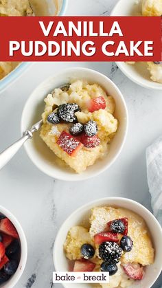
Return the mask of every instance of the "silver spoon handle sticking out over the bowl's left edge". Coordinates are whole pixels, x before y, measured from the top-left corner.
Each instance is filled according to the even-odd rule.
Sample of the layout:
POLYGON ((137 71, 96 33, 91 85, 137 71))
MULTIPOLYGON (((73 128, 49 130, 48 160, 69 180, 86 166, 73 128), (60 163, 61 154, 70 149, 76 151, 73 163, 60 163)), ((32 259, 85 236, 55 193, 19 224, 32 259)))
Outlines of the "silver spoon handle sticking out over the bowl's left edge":
POLYGON ((0 153, 0 170, 7 164, 10 159, 16 154, 17 151, 23 146, 23 144, 26 142, 27 139, 32 137, 32 133, 29 133, 30 131, 27 131, 24 133, 23 137, 16 141, 14 144, 6 148, 2 153, 0 153))

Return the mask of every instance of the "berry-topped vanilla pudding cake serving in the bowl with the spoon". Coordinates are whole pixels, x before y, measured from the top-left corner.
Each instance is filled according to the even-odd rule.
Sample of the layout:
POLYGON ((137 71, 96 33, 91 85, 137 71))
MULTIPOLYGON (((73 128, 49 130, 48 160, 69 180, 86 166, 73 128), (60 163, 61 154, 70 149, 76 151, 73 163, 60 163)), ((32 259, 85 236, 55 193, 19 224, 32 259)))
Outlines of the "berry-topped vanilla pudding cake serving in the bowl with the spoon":
POLYGON ((82 173, 108 153, 117 132, 115 100, 100 85, 76 80, 45 98, 40 137, 67 166, 82 173))

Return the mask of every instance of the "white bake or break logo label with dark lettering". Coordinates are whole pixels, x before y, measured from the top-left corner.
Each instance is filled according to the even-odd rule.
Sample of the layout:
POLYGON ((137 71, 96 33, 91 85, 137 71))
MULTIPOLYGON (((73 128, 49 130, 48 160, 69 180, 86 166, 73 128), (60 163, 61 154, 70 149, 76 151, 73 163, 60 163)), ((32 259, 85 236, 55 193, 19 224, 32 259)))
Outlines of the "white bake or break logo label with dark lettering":
POLYGON ((53 283, 109 283, 108 272, 54 272, 53 283))

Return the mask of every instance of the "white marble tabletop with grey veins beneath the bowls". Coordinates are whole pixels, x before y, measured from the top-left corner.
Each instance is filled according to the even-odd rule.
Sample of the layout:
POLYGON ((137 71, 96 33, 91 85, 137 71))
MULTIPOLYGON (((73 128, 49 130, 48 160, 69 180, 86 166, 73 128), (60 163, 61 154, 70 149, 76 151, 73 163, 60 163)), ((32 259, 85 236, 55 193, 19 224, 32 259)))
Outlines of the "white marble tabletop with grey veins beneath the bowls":
MULTIPOLYGON (((117 0, 69 0, 67 14, 108 15, 115 3, 117 0)), ((33 166, 23 148, 0 171, 1 205, 14 213, 27 236, 27 265, 16 288, 54 287, 52 247, 56 233, 62 221, 82 204, 99 197, 120 196, 150 209, 145 150, 162 133, 161 91, 138 87, 114 63, 34 63, 0 95, 0 150, 20 136, 22 109, 32 90, 51 74, 72 66, 96 69, 121 89, 130 117, 128 138, 122 155, 109 170, 82 183, 47 177, 33 166)), ((162 278, 154 288, 160 283, 162 278)))

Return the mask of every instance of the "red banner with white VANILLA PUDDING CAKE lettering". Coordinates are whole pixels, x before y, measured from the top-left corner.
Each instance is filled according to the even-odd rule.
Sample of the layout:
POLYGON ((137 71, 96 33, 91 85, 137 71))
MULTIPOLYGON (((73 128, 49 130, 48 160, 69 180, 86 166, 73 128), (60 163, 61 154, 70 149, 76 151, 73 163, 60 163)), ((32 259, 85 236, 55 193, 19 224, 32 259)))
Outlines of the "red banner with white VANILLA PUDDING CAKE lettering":
POLYGON ((161 61, 161 17, 0 17, 1 61, 161 61))

